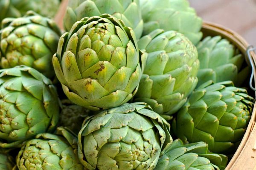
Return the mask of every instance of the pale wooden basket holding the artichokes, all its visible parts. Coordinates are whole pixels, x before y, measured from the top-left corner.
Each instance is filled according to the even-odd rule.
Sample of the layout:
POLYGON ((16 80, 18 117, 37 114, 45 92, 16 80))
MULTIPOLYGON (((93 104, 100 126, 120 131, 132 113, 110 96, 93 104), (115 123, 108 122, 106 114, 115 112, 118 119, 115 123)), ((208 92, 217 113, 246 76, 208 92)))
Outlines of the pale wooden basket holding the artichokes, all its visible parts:
MULTIPOLYGON (((67 3, 68 3, 68 0, 62 0, 59 11, 55 16, 55 21, 62 30, 63 30, 63 17, 64 17, 65 9, 67 7, 67 3)), ((209 35, 209 36, 221 35, 221 37, 226 38, 227 40, 232 42, 233 45, 239 48, 241 53, 244 55, 248 65, 250 65, 249 59, 247 57, 247 47, 249 46, 249 44, 239 34, 237 34, 234 31, 231 31, 228 28, 224 28, 223 26, 219 26, 217 24, 207 23, 207 22, 203 23, 201 31, 204 33, 204 35, 209 35)), ((254 62, 253 68, 255 68, 256 54, 254 52, 250 52, 250 54, 254 62)), ((255 69, 254 69, 254 78, 256 78, 255 69)), ((247 83, 247 85, 249 87, 249 82, 247 83)), ((247 130, 241 141, 241 144, 239 145, 238 149, 236 150, 236 153, 234 154, 233 158, 227 165, 226 170, 254 170, 254 169, 256 170, 255 121, 256 121, 256 105, 254 105, 253 113, 252 113, 249 125, 247 127, 247 130)))

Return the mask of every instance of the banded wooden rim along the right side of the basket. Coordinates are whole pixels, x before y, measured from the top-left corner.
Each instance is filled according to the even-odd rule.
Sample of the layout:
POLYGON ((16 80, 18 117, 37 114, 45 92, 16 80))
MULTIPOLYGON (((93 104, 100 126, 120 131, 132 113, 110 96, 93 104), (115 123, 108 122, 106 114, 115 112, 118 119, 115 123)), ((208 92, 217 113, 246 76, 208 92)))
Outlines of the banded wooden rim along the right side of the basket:
MULTIPOLYGON (((232 42, 233 45, 235 45, 237 48, 239 48, 241 53, 244 55, 244 57, 247 61, 247 64, 249 65, 249 60, 247 57, 247 48, 248 48, 249 44, 246 42, 246 40, 244 40, 243 37, 241 37, 241 35, 230 30, 229 28, 225 28, 224 26, 221 26, 221 25, 218 25, 215 23, 209 23, 209 22, 203 23, 201 31, 203 32, 203 34, 206 34, 209 36, 221 35, 221 37, 226 38, 227 40, 232 42)), ((254 52, 251 52, 250 54, 253 58, 254 70, 255 70, 256 54, 254 52)), ((254 82, 256 82, 255 78, 256 78, 256 72, 254 71, 254 82)), ((249 87, 249 84, 248 84, 248 87, 249 87)), ((225 170, 238 170, 237 168, 235 168, 234 165, 237 162, 239 162, 240 153, 244 149, 244 146, 246 145, 247 141, 249 141, 248 138, 253 130, 255 121, 256 121, 256 105, 254 103, 253 113, 252 113, 250 122, 248 124, 247 130, 244 134, 244 137, 243 137, 238 149, 236 150, 236 153, 234 154, 233 158, 230 160, 230 162, 227 165, 225 170)))

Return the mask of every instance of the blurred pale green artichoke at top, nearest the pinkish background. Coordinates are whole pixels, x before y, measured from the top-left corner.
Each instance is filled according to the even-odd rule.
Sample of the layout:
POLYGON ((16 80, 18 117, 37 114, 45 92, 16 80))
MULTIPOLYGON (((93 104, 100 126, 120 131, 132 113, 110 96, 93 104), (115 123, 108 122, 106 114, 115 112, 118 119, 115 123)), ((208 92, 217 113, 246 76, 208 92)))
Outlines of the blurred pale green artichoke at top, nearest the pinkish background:
POLYGON ((188 0, 140 0, 144 21, 143 35, 161 28, 164 31, 178 31, 193 44, 202 37, 202 19, 197 16, 188 0))

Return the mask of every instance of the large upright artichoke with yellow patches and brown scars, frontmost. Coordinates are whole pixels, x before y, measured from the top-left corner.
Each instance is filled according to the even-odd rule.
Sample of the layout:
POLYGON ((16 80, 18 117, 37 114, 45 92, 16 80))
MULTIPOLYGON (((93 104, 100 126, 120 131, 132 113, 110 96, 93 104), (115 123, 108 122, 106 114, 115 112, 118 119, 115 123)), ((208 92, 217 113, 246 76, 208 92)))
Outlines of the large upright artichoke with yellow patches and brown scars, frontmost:
POLYGON ((67 97, 99 110, 117 107, 134 96, 145 59, 146 54, 140 57, 134 31, 105 14, 76 22, 61 36, 52 62, 67 97))

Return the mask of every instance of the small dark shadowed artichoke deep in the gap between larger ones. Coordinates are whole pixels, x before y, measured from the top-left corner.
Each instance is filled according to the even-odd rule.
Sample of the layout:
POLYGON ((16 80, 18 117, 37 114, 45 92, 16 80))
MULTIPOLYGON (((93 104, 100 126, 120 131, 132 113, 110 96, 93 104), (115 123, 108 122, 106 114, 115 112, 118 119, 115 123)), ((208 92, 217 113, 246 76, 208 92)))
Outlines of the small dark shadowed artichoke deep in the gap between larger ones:
POLYGON ((90 111, 75 105, 69 100, 62 100, 62 110, 60 113, 60 125, 67 127, 78 134, 81 130, 84 119, 89 116, 90 111))

